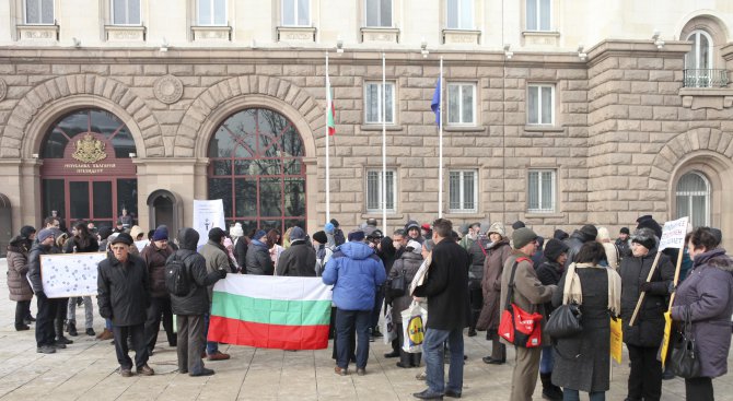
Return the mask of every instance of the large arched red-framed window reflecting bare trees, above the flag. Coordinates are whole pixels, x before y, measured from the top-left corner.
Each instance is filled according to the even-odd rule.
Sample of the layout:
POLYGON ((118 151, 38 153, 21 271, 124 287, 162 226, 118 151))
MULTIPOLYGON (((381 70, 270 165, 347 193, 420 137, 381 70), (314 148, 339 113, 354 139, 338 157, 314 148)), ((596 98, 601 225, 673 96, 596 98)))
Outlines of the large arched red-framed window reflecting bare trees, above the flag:
POLYGON ((306 228, 304 146, 281 114, 247 108, 222 122, 209 142, 209 199, 222 199, 226 223, 306 228))

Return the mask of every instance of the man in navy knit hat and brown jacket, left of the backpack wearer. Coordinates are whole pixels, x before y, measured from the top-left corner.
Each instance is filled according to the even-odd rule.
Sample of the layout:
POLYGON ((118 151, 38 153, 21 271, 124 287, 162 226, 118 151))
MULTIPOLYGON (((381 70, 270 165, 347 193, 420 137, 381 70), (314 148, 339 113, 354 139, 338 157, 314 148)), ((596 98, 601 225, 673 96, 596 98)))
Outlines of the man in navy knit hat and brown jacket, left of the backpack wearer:
MULTIPOLYGON (((146 318, 146 344, 150 355, 153 354, 161 331, 161 322, 170 346, 176 346, 178 338, 173 330, 173 309, 171 296, 165 288, 165 264, 175 250, 168 238, 168 227, 159 225, 150 236, 150 244, 142 249, 140 257, 146 262, 150 280, 150 305, 146 318)), ((107 329, 101 334, 104 335, 107 329)))

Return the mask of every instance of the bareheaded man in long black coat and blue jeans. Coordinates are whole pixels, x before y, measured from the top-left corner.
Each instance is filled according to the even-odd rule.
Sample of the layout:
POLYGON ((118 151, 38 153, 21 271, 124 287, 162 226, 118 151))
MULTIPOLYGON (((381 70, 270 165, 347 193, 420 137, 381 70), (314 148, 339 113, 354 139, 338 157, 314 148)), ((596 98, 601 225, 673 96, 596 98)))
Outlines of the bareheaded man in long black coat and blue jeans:
POLYGON ((468 326, 468 253, 451 239, 453 224, 438 219, 433 223, 432 261, 424 283, 412 295, 428 297, 428 319, 422 354, 428 389, 414 396, 423 400, 461 397, 463 390, 463 328, 468 326), (443 373, 443 343, 451 352, 449 381, 443 373))

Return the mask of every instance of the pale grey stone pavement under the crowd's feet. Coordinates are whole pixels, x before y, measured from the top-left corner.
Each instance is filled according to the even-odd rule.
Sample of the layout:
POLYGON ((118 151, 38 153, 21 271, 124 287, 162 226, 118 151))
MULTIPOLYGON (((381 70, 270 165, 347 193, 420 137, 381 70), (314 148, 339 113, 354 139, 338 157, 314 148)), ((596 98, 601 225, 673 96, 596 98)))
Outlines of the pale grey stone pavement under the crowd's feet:
MULTIPOLYGON (((0 259, 0 271, 7 271, 0 259)), ((391 351, 380 339, 370 343, 366 375, 340 377, 334 374, 331 349, 284 352, 246 346, 221 345, 232 358, 207 362, 217 374, 210 377, 189 377, 176 371, 175 349, 167 346, 165 334, 150 358, 155 376, 123 378, 117 373, 114 346, 80 330, 74 343, 56 354, 36 353, 32 330, 16 332, 13 328, 15 303, 8 299, 5 274, 0 274, 0 399, 1 400, 416 400, 411 394, 424 389, 416 380, 420 368, 403 369, 394 358, 383 357, 391 351)), ((96 314, 94 330, 101 331, 104 320, 96 314)), ((35 315, 35 300, 32 305, 35 315)), ((83 307, 77 308, 77 321, 83 322, 83 307)), ((481 357, 489 354, 490 342, 479 333, 465 338, 463 398, 468 400, 507 400, 514 365, 513 350, 502 366, 486 365, 481 357)), ((329 344, 330 345, 330 344, 329 344)), ((613 368, 607 400, 624 400, 628 378, 628 358, 613 368)), ((730 356, 729 361, 733 362, 730 356)), ((351 369, 354 367, 351 366, 351 369)), ((447 374, 447 369, 446 369, 447 374)), ((537 380, 534 400, 542 400, 537 380)), ((713 380, 715 399, 733 401, 731 375, 713 380)), ((664 381, 662 399, 685 399, 685 382, 676 378, 664 381)), ((587 400, 581 394, 581 400, 587 400)))

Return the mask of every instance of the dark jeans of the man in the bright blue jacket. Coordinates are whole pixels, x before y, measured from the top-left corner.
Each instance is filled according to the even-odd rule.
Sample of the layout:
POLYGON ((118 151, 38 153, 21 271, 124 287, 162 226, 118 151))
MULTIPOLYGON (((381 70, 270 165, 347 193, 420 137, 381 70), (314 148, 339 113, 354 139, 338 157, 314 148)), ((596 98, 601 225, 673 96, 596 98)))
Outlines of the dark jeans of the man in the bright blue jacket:
POLYGON ((369 358, 369 325, 371 310, 336 309, 336 364, 346 369, 349 367, 349 332, 357 328, 357 368, 366 367, 369 358))

